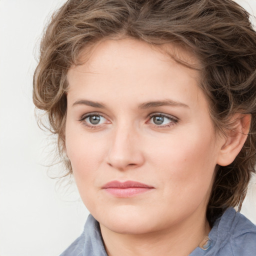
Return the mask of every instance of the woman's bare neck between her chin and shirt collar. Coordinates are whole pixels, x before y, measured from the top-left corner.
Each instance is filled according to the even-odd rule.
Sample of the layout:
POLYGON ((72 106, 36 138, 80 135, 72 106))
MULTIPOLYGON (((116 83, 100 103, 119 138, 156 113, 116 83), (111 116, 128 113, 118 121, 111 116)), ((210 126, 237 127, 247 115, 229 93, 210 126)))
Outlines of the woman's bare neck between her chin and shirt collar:
POLYGON ((206 216, 198 218, 197 215, 171 228, 150 233, 117 233, 101 224, 100 228, 108 256, 187 256, 210 230, 206 216))

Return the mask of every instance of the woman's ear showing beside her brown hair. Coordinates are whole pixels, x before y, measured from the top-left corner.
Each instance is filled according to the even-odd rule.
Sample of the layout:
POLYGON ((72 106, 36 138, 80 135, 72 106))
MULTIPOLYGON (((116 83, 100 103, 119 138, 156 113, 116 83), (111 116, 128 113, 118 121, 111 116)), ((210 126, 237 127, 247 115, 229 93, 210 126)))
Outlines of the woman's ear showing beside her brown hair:
POLYGON ((233 126, 225 132, 224 143, 221 145, 217 157, 217 164, 230 164, 240 152, 249 132, 250 114, 236 113, 232 117, 233 126))

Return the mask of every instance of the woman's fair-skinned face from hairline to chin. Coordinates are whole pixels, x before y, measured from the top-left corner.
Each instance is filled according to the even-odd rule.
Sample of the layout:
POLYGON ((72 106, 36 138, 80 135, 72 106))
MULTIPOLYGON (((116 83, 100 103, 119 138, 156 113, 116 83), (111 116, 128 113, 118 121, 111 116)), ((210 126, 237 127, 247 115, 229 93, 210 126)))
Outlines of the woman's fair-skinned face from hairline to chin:
POLYGON ((67 79, 66 153, 91 214, 119 233, 196 225, 223 142, 197 71, 145 42, 105 40, 67 79))

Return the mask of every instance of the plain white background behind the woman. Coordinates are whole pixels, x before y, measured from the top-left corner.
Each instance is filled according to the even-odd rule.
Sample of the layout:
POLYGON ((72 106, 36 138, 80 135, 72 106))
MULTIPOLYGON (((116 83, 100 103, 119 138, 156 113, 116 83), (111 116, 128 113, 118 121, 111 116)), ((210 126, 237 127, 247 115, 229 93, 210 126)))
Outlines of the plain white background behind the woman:
MULTIPOLYGON (((88 214, 74 185, 67 190, 48 176, 61 166, 47 173, 53 147, 36 124, 31 98, 40 35, 63 2, 0 0, 0 256, 57 256, 88 214)), ((256 0, 237 2, 256 13, 256 0)), ((242 212, 256 223, 255 184, 242 212)))

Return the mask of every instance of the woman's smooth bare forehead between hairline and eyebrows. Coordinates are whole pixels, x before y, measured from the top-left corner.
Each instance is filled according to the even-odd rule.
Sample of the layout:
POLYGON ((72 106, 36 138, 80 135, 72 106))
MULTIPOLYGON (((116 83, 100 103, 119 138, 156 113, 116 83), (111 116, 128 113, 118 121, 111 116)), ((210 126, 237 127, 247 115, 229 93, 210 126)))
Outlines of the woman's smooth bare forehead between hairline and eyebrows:
MULTIPOLYGON (((191 101, 198 94, 199 71, 175 61, 179 58, 191 66, 197 59, 178 46, 160 48, 134 39, 104 40, 95 45, 90 54, 81 52, 80 65, 73 65, 67 74, 68 91, 74 97, 84 93, 89 97, 104 97, 114 93, 117 97, 140 95, 141 101, 164 99, 191 101), (95 94, 96 93, 96 94, 95 94)), ((124 98, 124 99, 125 99, 124 98)), ((143 103, 143 102, 138 102, 143 103)))

